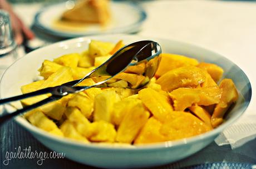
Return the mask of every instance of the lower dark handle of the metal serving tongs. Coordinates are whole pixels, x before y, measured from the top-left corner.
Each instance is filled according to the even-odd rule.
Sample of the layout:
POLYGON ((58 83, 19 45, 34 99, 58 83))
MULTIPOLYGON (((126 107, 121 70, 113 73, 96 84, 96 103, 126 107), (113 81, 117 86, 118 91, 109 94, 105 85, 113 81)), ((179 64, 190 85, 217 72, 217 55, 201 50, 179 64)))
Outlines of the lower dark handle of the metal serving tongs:
POLYGON ((39 106, 45 105, 45 104, 50 103, 50 102, 55 101, 55 100, 59 100, 61 98, 62 98, 62 96, 51 96, 51 97, 49 97, 47 99, 38 101, 35 104, 26 106, 23 109, 19 109, 17 111, 11 112, 11 113, 3 112, 3 114, 0 114, 0 125, 3 124, 4 122, 10 120, 12 117, 14 117, 16 115, 23 114, 26 111, 35 109, 35 108, 37 108, 39 106))

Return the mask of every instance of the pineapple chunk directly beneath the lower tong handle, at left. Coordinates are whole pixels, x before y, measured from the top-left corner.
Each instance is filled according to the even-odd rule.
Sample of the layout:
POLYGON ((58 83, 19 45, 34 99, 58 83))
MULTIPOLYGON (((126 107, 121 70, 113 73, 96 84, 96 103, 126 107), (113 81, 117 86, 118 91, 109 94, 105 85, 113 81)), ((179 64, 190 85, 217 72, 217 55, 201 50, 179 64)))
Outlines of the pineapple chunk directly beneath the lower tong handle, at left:
POLYGON ((42 105, 38 109, 55 120, 60 120, 65 111, 65 107, 59 101, 42 105))

